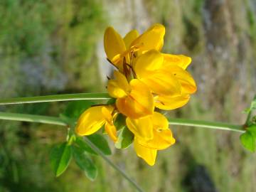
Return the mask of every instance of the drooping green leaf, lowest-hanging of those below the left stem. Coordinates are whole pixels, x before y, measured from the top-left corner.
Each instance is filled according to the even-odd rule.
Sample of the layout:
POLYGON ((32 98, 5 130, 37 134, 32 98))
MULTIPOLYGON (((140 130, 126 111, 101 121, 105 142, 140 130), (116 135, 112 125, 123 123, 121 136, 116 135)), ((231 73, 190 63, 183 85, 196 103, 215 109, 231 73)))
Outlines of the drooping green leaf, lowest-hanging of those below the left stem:
POLYGON ((85 176, 87 176, 87 178, 94 181, 97 177, 97 167, 90 159, 90 156, 77 146, 72 146, 72 152, 75 163, 78 164, 82 171, 85 171, 85 176))

